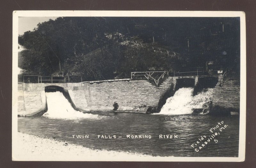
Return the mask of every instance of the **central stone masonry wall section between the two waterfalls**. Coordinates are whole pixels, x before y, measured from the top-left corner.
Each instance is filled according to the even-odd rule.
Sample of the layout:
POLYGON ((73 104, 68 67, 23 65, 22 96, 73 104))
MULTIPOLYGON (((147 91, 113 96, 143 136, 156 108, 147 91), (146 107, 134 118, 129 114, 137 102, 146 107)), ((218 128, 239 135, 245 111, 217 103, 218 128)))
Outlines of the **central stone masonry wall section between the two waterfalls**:
POLYGON ((68 84, 68 90, 72 90, 76 108, 84 111, 112 111, 117 102, 118 111, 146 113, 149 107, 158 107, 161 97, 171 89, 171 82, 169 77, 156 88, 147 80, 95 81, 73 88, 68 84))

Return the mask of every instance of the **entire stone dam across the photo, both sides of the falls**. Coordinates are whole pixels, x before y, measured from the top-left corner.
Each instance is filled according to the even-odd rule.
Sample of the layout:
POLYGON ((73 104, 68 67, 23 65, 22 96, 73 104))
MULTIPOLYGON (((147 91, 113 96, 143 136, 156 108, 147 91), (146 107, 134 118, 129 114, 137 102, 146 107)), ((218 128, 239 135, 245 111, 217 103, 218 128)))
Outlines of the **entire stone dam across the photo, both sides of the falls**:
MULTIPOLYGON (((220 86, 222 75, 167 77, 156 87, 148 80, 116 79, 82 83, 19 83, 18 116, 40 116, 47 111, 45 92, 56 89, 63 92, 73 108, 85 111, 159 112, 175 88, 199 83, 213 84, 212 109, 230 113, 239 112, 240 85, 220 86), (204 81, 208 82, 204 82, 204 81), (212 81, 212 82, 211 82, 212 81)), ((195 89, 196 90, 196 89, 195 89)))

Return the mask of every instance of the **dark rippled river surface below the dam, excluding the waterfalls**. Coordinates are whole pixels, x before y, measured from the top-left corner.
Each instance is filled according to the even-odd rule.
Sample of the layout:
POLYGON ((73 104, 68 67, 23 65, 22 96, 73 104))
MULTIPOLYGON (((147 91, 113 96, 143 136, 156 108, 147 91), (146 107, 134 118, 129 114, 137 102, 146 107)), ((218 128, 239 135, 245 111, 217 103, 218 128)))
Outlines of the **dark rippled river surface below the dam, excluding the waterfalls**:
MULTIPOLYGON (((146 115, 136 113, 95 112, 100 119, 58 119, 46 116, 19 117, 20 132, 40 137, 68 141, 94 149, 138 152, 153 156, 225 156, 238 157, 239 116, 209 115, 146 115), (228 125, 198 152, 190 145, 212 135, 210 128, 218 122, 228 125), (127 139, 126 135, 150 135, 151 139, 127 139), (159 139, 159 134, 171 134, 173 139, 159 139), (179 138, 174 139, 174 134, 179 138), (89 135, 88 139, 72 135, 89 135), (98 135, 110 135, 101 139, 98 135), (116 139, 113 138, 116 135, 116 139), (122 138, 118 138, 122 136, 122 138)), ((206 141, 206 138, 203 140, 206 141)), ((200 145, 202 142, 200 142, 200 145)))

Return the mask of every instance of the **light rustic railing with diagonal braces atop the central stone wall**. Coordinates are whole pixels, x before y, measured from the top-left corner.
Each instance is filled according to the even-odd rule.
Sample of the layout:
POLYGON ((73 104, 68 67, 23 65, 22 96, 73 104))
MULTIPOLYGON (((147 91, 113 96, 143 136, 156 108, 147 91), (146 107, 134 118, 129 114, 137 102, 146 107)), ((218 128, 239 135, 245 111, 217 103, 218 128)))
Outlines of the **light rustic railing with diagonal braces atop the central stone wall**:
POLYGON ((164 75, 169 76, 169 72, 168 71, 151 71, 151 72, 131 72, 131 79, 134 79, 134 77, 136 76, 145 76, 148 80, 149 78, 152 78, 154 80, 154 82, 156 83, 156 87, 158 87, 158 83, 160 78, 164 78, 164 75), (159 74, 160 73, 160 74, 159 74), (152 75, 158 75, 156 76, 152 76, 152 75))

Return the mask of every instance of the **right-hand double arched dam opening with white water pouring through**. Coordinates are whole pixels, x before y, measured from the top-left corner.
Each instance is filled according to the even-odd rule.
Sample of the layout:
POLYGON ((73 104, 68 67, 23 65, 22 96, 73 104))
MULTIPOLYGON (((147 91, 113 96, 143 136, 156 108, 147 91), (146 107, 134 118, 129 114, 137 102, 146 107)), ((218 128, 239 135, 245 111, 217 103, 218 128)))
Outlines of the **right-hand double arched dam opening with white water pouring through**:
POLYGON ((167 98, 158 114, 208 114, 212 108, 213 88, 217 77, 178 78, 173 95, 167 98))

